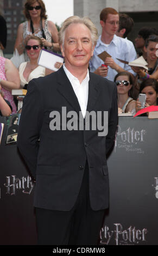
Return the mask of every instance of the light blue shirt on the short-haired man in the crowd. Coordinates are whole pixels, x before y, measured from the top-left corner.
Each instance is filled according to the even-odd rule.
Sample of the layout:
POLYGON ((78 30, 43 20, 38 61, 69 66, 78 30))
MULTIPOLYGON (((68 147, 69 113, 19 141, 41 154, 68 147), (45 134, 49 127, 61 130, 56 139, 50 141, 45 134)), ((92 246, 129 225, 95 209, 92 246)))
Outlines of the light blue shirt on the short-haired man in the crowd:
MULTIPOLYGON (((114 35, 110 44, 107 46, 104 44, 104 42, 102 42, 100 35, 96 47, 94 48, 93 57, 90 60, 91 72, 94 72, 96 69, 99 68, 100 65, 104 64, 103 60, 98 57, 98 54, 102 53, 103 51, 108 52, 115 61, 115 63, 121 66, 121 68, 135 75, 135 72, 132 71, 129 65, 119 62, 119 60, 116 59, 119 58, 122 60, 126 60, 127 62, 132 62, 132 60, 135 60, 137 58, 134 44, 130 40, 114 35)), ((106 76, 106 78, 113 81, 117 73, 118 72, 115 69, 111 69, 110 66, 108 66, 108 75, 106 76)))

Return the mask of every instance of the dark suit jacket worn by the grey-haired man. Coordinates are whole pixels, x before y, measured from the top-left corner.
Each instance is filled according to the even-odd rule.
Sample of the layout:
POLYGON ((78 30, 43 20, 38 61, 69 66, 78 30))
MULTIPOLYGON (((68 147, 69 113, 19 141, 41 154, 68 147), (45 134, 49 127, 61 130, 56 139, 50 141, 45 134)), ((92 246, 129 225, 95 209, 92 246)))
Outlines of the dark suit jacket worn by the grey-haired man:
POLYGON ((30 81, 18 131, 18 148, 36 178, 34 205, 69 211, 80 190, 86 160, 89 163, 90 202, 93 210, 109 205, 109 177, 106 153, 117 126, 117 89, 114 83, 90 73, 87 111, 108 111, 108 136, 98 131, 52 131, 50 112, 65 106, 81 111, 77 96, 61 68, 46 77, 30 81), (37 140, 40 137, 40 143, 37 140))

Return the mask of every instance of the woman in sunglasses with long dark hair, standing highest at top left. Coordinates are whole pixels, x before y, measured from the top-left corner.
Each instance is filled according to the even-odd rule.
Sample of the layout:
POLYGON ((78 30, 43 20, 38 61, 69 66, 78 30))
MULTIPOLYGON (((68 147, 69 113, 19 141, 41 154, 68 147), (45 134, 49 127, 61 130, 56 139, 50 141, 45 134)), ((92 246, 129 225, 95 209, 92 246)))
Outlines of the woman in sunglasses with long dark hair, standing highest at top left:
POLYGON ((52 21, 47 20, 45 4, 42 0, 27 0, 24 5, 24 15, 27 21, 18 26, 15 49, 18 54, 24 54, 27 61, 25 51, 26 42, 30 35, 36 35, 41 38, 43 46, 50 51, 59 51, 58 31, 52 21))

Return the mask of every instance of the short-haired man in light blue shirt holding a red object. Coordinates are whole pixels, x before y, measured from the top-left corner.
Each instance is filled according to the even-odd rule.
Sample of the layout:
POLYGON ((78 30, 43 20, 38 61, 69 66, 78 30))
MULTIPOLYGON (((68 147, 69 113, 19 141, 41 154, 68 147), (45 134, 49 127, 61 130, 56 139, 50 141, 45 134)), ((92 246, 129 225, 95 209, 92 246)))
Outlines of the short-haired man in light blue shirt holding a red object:
POLYGON ((90 70, 97 75, 108 78, 113 81, 118 72, 128 71, 134 74, 129 65, 120 62, 122 59, 128 62, 137 58, 134 45, 129 47, 127 40, 116 35, 119 26, 119 15, 113 8, 105 8, 100 13, 100 25, 102 26, 102 35, 99 36, 97 45, 94 49, 93 57, 90 61, 90 70), (111 57, 103 61, 98 54, 106 51, 111 57), (102 66, 105 64, 108 66, 102 66))

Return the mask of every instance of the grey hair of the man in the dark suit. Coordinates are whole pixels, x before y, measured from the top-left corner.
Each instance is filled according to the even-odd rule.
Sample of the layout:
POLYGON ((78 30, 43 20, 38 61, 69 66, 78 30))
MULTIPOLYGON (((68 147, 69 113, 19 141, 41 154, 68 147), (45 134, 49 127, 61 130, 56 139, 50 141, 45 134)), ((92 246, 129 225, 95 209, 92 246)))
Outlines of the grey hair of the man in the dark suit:
POLYGON ((97 44, 97 40, 98 40, 98 31, 96 26, 93 24, 93 22, 90 20, 89 17, 79 17, 79 16, 71 16, 68 17, 64 23, 62 23, 62 27, 60 28, 59 31, 59 44, 62 45, 62 47, 64 47, 64 40, 65 40, 65 31, 66 28, 71 25, 72 23, 75 24, 84 24, 87 28, 90 29, 91 32, 91 38, 92 38, 92 44, 96 45, 97 44))

